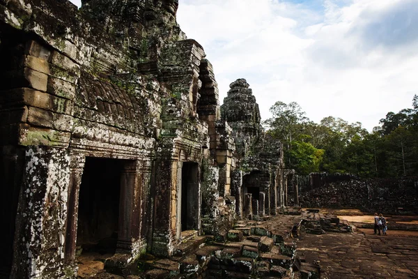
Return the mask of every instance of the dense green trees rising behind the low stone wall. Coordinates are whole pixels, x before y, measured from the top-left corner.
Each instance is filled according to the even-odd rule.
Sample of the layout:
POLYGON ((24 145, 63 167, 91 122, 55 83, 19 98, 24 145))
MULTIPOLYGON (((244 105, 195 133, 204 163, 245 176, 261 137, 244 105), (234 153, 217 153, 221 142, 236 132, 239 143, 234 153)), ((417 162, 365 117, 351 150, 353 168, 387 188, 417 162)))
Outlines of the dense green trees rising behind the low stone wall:
POLYGON ((314 123, 295 102, 277 102, 264 126, 284 144, 285 163, 299 174, 340 172, 361 177, 418 175, 418 96, 412 108, 388 112, 369 133, 362 123, 327 116, 314 123))

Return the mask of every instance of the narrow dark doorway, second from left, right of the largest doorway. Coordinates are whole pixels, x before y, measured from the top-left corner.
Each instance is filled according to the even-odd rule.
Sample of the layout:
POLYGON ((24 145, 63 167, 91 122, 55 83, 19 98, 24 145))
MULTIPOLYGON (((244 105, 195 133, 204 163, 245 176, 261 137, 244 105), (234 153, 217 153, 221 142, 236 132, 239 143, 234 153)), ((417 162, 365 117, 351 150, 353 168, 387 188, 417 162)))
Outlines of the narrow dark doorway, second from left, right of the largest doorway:
POLYGON ((181 172, 181 230, 199 228, 199 164, 183 163, 181 172))

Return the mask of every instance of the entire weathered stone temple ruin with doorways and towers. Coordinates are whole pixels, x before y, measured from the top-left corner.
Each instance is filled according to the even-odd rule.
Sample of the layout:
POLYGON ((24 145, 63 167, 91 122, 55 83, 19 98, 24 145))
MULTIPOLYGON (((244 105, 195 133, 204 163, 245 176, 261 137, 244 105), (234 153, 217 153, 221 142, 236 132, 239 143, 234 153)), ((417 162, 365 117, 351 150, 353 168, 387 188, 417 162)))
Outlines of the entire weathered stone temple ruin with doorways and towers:
POLYGON ((0 277, 74 278, 93 246, 171 257, 277 213, 281 144, 245 80, 221 113, 178 1, 82 4, 0 0, 0 277))

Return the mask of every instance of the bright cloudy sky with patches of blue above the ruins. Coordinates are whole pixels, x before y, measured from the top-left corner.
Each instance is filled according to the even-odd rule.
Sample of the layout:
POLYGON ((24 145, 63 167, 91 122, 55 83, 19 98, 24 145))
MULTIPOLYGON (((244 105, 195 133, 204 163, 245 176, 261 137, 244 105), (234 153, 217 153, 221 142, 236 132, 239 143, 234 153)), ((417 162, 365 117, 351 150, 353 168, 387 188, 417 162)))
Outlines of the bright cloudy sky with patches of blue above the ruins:
MULTIPOLYGON (((77 2, 77 0, 74 0, 77 2)), ((418 0, 180 0, 219 83, 244 77, 263 119, 277 100, 369 130, 418 94, 418 0)))

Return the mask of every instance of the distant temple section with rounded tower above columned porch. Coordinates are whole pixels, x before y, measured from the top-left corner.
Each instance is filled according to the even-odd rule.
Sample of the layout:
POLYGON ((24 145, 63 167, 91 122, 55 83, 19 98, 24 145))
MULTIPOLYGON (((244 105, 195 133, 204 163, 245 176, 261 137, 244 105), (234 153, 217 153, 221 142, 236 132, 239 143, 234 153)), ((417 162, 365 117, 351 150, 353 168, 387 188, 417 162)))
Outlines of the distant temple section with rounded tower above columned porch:
POLYGON ((236 80, 221 107, 235 138, 232 192, 240 218, 275 214, 284 206, 281 143, 263 133, 256 98, 246 80, 236 80))

